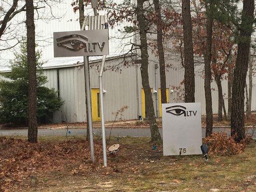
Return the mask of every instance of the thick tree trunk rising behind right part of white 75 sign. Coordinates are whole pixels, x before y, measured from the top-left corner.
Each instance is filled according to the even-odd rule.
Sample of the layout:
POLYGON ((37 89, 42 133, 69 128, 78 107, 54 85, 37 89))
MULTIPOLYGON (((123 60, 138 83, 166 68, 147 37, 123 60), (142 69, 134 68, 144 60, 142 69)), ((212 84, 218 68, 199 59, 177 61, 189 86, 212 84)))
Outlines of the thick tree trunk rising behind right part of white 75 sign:
POLYGON ((195 102, 195 72, 192 40, 190 0, 182 0, 183 39, 184 39, 184 86, 185 102, 195 102))

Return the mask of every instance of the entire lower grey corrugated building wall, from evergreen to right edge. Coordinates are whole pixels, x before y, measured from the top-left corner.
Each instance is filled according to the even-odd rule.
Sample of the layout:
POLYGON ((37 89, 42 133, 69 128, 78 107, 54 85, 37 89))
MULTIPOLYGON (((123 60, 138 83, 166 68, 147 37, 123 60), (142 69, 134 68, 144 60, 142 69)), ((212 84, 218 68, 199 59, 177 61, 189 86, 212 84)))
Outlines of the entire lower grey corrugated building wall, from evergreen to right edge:
MULTIPOLYGON (((123 59, 107 60, 106 65, 120 63, 123 59)), ((98 85, 98 68, 94 63, 94 67, 90 69, 91 88, 99 88, 98 85)), ((175 64, 175 63, 174 63, 175 64)), ((178 65, 178 63, 176 63, 178 65)), ((199 68, 202 68, 202 66, 199 68)), ((122 67, 122 72, 105 71, 103 73, 103 89, 107 91, 104 94, 104 110, 105 120, 110 121, 115 119, 113 113, 117 112, 123 106, 128 106, 122 113, 123 120, 137 119, 138 115, 142 115, 142 84, 139 67, 137 69, 138 74, 138 104, 136 93, 136 68, 122 67)), ((198 69, 200 70, 200 69, 198 69)), ((150 61, 149 68, 149 82, 152 89, 156 89, 155 86, 155 62, 150 61)), ((57 69, 46 70, 45 74, 49 78, 47 86, 56 87, 57 85, 57 69), (54 83, 51 83, 53 80, 54 83)), ((183 80, 183 69, 169 69, 166 72, 166 84, 167 88, 171 90, 171 86, 177 86, 183 80)), ((160 74, 159 68, 157 69, 158 88, 160 88, 160 74)), ((254 79, 255 83, 255 79, 254 79)), ((84 69, 81 67, 71 67, 59 69, 59 90, 60 96, 65 100, 65 104, 61 107, 62 120, 69 122, 83 122, 85 118, 85 84, 84 84, 84 69)), ((227 95, 227 81, 222 81, 223 93, 227 95)), ((213 113, 218 113, 218 89, 216 83, 213 81, 212 87, 212 104, 213 113)), ((254 89, 255 92, 255 84, 254 89)), ((252 98, 252 110, 255 110, 255 95, 252 98)), ((171 93, 169 91, 169 102, 175 103, 177 93, 171 93)), ((156 107, 156 95, 153 94, 154 106, 156 107)), ((204 95, 204 79, 201 76, 195 76, 195 101, 201 103, 202 115, 206 114, 205 95, 204 95)), ((227 108, 227 99, 225 99, 225 106, 227 108)), ((57 114, 58 115, 58 114, 57 114)))

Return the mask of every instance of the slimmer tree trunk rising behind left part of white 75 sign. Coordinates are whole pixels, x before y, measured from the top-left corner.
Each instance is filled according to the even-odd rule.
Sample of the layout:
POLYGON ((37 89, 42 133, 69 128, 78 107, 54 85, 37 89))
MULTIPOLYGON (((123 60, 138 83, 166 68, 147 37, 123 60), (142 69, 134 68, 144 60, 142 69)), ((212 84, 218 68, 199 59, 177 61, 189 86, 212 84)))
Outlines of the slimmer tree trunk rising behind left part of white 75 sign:
MULTIPOLYGON (((159 0, 153 0, 155 11, 157 13, 157 45, 159 56, 159 68, 160 68, 160 87, 161 87, 161 103, 167 103, 166 97, 166 75, 165 75, 165 60, 164 60, 164 48, 163 48, 163 26, 161 19, 161 9, 159 0)), ((156 87, 157 88, 157 87, 156 87)))

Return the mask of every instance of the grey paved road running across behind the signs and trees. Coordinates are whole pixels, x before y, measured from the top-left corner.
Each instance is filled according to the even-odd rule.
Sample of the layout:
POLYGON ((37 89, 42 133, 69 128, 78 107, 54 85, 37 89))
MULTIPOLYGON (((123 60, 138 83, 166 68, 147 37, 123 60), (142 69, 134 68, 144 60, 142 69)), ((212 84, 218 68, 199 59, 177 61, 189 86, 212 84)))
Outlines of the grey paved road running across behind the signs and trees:
MULTIPOLYGON (((81 128, 69 128, 71 132, 71 136, 75 135, 85 135, 86 130, 81 128)), ((67 130, 66 129, 38 129, 38 135, 40 136, 65 136, 67 130)), ((101 134, 100 128, 93 129, 95 135, 101 134)), ((162 135, 162 129, 159 129, 160 134, 162 135)), ((206 129, 202 128, 202 137, 205 137, 206 129)), ((214 128, 213 132, 227 132, 230 135, 229 128, 214 128)), ((248 129, 247 131, 249 134, 252 134, 253 130, 248 129)), ((69 134, 69 133, 68 133, 69 134)), ((0 135, 27 135, 27 129, 15 129, 15 130, 0 130, 0 135)), ((110 135, 110 128, 106 128, 106 136, 110 135)), ((111 136, 131 136, 131 137, 150 137, 150 130, 149 128, 146 129, 129 129, 129 128, 114 128, 111 130, 111 136)), ((253 135, 253 138, 256 139, 256 132, 253 135)))

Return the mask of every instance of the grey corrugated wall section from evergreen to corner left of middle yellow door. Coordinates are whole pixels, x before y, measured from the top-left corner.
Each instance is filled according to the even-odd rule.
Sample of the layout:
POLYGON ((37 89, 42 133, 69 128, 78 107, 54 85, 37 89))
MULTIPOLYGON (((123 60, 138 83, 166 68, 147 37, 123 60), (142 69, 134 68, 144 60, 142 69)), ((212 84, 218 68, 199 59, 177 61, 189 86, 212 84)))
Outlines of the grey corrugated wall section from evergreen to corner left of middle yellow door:
MULTIPOLYGON (((122 59, 115 60, 115 62, 121 61, 122 59)), ((112 62, 113 60, 108 60, 106 65, 112 62)), ((90 69, 91 88, 99 88, 98 69, 96 66, 98 64, 100 63, 94 63, 95 67, 90 69)), ((115 115, 113 113, 117 112, 123 106, 128 106, 128 109, 122 113, 123 120, 137 118, 135 67, 122 67, 121 69, 121 73, 113 71, 103 73, 103 89, 107 91, 104 94, 105 120, 114 120, 115 115)), ((49 80, 47 86, 54 87, 56 90, 58 84, 57 70, 59 71, 60 97, 65 101, 60 109, 62 120, 68 122, 86 121, 83 65, 79 67, 45 70, 44 74, 49 80), (52 80, 56 83, 50 83, 52 80)))

